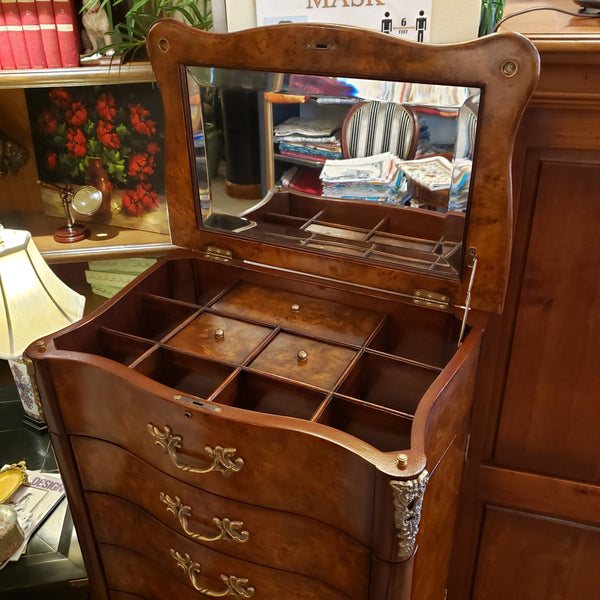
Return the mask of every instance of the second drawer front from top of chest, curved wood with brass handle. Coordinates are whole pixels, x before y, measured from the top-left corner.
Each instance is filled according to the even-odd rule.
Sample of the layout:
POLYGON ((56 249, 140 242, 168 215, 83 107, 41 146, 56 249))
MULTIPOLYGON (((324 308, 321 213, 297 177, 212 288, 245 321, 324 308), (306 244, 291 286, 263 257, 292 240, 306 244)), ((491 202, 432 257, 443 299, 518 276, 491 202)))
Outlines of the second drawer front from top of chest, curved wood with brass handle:
POLYGON ((337 529, 198 490, 114 444, 74 436, 72 445, 86 492, 123 498, 215 551, 307 575, 349 598, 365 597, 370 553, 337 529))

